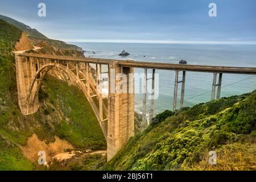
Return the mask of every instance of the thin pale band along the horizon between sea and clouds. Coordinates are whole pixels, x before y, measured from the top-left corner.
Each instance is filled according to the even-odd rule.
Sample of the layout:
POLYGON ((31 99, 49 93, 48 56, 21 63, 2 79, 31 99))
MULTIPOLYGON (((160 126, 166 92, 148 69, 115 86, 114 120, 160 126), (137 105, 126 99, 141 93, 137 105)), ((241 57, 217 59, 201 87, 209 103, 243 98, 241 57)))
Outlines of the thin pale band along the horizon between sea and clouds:
POLYGON ((185 40, 126 40, 126 39, 62 39, 75 43, 144 43, 144 44, 222 44, 222 45, 256 45, 253 41, 185 41, 185 40))

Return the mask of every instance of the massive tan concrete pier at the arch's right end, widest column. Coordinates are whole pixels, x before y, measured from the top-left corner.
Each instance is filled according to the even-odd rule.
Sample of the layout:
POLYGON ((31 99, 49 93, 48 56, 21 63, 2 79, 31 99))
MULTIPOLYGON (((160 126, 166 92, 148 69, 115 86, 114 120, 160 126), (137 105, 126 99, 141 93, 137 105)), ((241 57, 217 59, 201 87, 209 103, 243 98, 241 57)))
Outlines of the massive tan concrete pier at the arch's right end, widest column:
POLYGON ((110 61, 109 69, 108 160, 134 136, 134 92, 129 92, 133 88, 133 77, 128 76, 133 73, 133 68, 121 67, 118 61, 110 61))

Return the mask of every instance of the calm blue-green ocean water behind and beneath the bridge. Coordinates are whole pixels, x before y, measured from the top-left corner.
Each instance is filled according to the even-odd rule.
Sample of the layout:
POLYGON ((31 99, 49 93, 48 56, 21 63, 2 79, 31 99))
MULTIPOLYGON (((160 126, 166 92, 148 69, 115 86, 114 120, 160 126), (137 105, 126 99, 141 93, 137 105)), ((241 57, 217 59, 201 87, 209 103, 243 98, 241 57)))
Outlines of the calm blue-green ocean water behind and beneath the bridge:
MULTIPOLYGON (((143 43, 81 43, 85 56, 106 59, 133 59, 137 61, 188 64, 225 65, 236 67, 256 67, 256 45, 212 45, 212 44, 143 44, 143 43), (125 49, 127 57, 118 56, 125 49), (95 52, 95 53, 93 53, 95 52)), ((143 69, 135 68, 135 73, 143 69)), ((151 72, 151 71, 149 71, 151 72)), ((174 71, 159 71, 158 99, 155 100, 155 113, 172 110, 174 97, 174 71)), ((181 80, 181 72, 179 80, 181 80)), ((186 72, 184 106, 193 106, 210 100, 212 73, 186 72)), ((148 81, 148 87, 150 87, 148 81)), ((179 107, 181 84, 179 84, 177 107, 179 107)), ((255 75, 223 74, 221 97, 228 97, 256 89, 255 75)), ((150 100, 147 100, 147 110, 150 100)), ((142 94, 135 94, 135 110, 142 111, 142 94)))

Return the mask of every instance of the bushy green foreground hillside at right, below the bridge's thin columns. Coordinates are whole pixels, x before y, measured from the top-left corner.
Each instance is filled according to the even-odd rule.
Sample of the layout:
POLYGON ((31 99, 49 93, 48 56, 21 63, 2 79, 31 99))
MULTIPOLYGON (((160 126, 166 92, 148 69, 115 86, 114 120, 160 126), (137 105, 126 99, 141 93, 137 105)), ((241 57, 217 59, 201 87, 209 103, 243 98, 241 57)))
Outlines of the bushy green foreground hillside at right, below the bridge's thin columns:
POLYGON ((155 121, 101 169, 256 170, 256 90, 166 111, 155 121), (208 163, 209 151, 217 165, 208 163))

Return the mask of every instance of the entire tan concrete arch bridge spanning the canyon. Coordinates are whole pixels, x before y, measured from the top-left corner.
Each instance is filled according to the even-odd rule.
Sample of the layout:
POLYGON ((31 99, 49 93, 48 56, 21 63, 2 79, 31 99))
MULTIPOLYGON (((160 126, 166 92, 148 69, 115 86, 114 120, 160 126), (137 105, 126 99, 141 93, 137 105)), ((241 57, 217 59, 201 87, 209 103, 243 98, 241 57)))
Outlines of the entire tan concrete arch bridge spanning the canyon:
MULTIPOLYGON (((134 89, 134 78, 128 76, 133 75, 134 68, 144 69, 146 76, 144 76, 143 88, 147 88, 147 80, 150 79, 152 81, 152 93, 155 89, 155 69, 175 71, 174 110, 176 110, 177 86, 179 83, 181 83, 180 106, 183 107, 185 73, 187 71, 213 73, 211 100, 220 98, 223 73, 256 75, 256 68, 150 63, 31 53, 15 53, 15 62, 19 107, 24 115, 33 114, 38 110, 38 93, 47 72, 56 67, 67 73, 69 78, 79 86, 92 106, 107 141, 108 160, 113 158, 130 137, 134 136, 134 92, 130 92, 134 89), (104 66, 107 68, 105 74, 108 75, 108 88, 105 93, 102 92, 104 88, 102 88, 101 78, 102 67, 104 66), (152 69, 151 78, 147 78, 148 69, 152 69), (182 72, 181 81, 178 79, 179 72, 182 72), (121 76, 118 76, 120 74, 121 76), (218 82, 216 82, 217 75, 218 82), (112 89, 115 90, 120 87, 120 81, 122 81, 122 92, 111 92, 112 89)), ((144 92, 143 127, 146 126, 145 123, 147 122, 146 97, 147 93, 144 92)), ((151 100, 150 121, 154 117, 154 108, 154 100, 151 100)))

